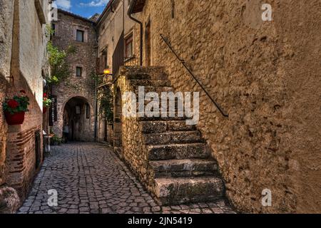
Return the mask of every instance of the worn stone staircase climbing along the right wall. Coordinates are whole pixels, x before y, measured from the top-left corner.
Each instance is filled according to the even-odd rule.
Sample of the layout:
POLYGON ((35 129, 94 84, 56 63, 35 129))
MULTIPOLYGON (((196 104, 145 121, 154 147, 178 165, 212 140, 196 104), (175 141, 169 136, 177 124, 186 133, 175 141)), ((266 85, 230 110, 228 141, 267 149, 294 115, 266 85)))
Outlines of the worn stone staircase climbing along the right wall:
MULTIPOLYGON (((173 91, 163 71, 141 70, 127 76, 138 94, 138 86, 146 93, 173 91)), ((177 116, 177 115, 175 115, 177 116)), ((153 181, 149 190, 161 204, 208 202, 221 199, 225 188, 218 163, 195 125, 186 118, 138 118, 139 130, 147 150, 148 175, 153 181)))

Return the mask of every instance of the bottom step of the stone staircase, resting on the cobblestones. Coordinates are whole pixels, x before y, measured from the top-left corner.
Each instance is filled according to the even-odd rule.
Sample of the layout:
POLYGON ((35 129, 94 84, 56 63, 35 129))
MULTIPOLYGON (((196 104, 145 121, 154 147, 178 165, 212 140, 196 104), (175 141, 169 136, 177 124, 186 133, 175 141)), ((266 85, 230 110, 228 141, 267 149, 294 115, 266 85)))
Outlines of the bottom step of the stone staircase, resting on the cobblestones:
POLYGON ((224 195, 223 181, 218 177, 157 178, 155 196, 163 205, 209 202, 224 195))

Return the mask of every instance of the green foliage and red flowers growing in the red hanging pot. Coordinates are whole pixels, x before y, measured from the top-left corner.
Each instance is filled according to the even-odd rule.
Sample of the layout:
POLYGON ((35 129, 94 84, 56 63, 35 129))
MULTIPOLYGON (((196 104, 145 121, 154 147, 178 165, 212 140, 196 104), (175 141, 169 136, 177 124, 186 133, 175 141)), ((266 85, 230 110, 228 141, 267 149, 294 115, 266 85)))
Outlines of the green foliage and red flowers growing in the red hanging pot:
POLYGON ((11 114, 28 112, 29 97, 26 96, 26 92, 21 90, 19 95, 15 95, 13 98, 6 98, 2 103, 5 112, 11 114))

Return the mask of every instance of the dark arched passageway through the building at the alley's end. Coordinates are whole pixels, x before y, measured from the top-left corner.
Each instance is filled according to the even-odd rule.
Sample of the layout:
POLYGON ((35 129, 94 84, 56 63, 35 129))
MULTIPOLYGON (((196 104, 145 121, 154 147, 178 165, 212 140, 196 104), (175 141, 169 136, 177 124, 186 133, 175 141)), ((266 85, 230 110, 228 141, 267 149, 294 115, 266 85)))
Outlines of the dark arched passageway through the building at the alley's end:
POLYGON ((93 141, 93 110, 86 98, 68 100, 63 110, 63 133, 66 133, 66 128, 68 141, 93 141))

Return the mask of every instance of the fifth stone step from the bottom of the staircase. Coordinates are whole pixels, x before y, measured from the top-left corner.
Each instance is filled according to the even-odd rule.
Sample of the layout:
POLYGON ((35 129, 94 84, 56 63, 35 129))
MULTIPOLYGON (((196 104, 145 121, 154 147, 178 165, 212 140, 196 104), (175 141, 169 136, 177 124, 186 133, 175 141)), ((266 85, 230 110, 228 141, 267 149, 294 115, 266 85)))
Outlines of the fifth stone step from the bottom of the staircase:
POLYGON ((141 131, 142 133, 165 133, 172 131, 194 131, 195 125, 187 125, 182 120, 170 120, 170 121, 142 121, 141 131))

